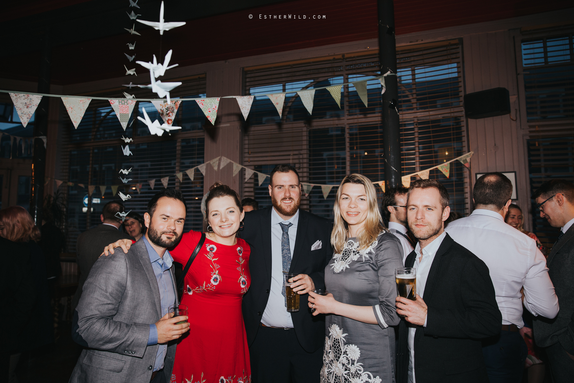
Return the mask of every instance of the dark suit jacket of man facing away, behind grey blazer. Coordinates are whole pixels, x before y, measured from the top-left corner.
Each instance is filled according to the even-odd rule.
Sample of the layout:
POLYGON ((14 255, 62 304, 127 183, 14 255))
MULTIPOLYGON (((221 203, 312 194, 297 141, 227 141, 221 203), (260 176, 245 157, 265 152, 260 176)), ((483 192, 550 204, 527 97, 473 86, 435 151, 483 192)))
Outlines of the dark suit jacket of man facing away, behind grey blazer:
POLYGON ((76 262, 80 269, 80 280, 77 284, 76 293, 73 296, 72 311, 80 301, 84 282, 86 282, 92 266, 94 266, 100 254, 104 251, 104 247, 122 238, 134 241, 134 237, 122 233, 113 226, 103 224, 94 227, 94 229, 86 230, 77 236, 76 262))

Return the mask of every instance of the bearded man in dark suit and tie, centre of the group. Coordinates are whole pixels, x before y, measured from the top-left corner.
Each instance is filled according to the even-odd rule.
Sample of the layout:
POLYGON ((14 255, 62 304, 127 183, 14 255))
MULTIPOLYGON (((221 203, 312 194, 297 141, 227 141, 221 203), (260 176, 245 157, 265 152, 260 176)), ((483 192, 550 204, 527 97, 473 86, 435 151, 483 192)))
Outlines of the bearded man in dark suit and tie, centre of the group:
POLYGON ((271 173, 273 207, 245 214, 241 238, 251 247, 251 287, 243 296, 243 320, 253 383, 319 382, 325 321, 307 307, 308 292, 324 289, 332 257, 331 223, 299 208, 301 185, 295 168, 271 173), (294 277, 300 310, 287 312, 283 272, 294 277))

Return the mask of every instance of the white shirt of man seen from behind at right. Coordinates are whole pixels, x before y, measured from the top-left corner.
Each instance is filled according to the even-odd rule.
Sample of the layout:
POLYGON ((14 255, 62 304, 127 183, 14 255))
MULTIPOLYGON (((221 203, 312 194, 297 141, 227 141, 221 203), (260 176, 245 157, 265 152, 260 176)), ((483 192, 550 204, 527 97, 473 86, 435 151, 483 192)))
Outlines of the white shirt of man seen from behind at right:
POLYGON ((446 231, 488 266, 502 324, 524 326, 522 287, 526 310, 550 319, 558 314, 546 258, 534 239, 507 225, 498 212, 476 209, 470 216, 449 223, 446 231))

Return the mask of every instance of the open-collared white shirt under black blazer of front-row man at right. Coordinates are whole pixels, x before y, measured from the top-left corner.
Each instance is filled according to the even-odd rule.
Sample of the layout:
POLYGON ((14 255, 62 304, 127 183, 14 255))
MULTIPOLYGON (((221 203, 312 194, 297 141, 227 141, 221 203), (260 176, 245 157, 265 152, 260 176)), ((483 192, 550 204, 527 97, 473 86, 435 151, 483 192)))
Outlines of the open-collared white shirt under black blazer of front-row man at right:
MULTIPOLYGON (((421 244, 417 243, 414 248, 416 252, 416 258, 414 259, 413 267, 417 269, 417 294, 421 296, 425 293, 426 278, 429 276, 430 266, 432 261, 435 260, 435 254, 439 250, 440 244, 443 243, 444 237, 447 233, 443 231, 439 237, 436 237, 434 241, 430 242, 428 245, 422 249, 421 244), (421 258, 422 255, 422 258, 421 258), (419 261, 420 259, 420 261, 419 261)), ((426 327, 426 319, 424 327, 426 327)), ((409 325, 409 383, 415 383, 414 379, 414 333, 417 331, 417 326, 409 325)))

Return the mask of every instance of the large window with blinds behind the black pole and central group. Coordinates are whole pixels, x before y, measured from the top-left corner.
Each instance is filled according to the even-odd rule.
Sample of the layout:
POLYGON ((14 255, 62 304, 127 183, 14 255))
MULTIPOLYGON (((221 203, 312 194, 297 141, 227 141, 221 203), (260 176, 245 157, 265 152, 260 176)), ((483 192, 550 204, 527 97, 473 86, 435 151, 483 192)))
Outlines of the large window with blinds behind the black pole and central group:
MULTIPOLYGON (((397 61, 402 174, 466 153, 460 41, 397 47, 397 61)), ((304 183, 338 185, 351 172, 384 180, 379 80, 367 82, 367 106, 352 84, 342 87, 340 108, 327 90, 317 90, 312 115, 294 93, 372 78, 379 75, 378 66, 378 53, 368 51, 245 68, 245 94, 255 100, 243 141, 244 165, 269 174, 274 165, 292 164, 304 183), (281 116, 265 96, 272 92, 288 92, 281 116)), ((451 208, 466 214, 468 170, 455 161, 448 179, 439 171, 430 177, 445 184, 451 208)), ((244 195, 269 206, 268 180, 261 186, 256 178, 249 180, 244 195)), ((314 187, 301 206, 332 218, 335 195, 333 188, 325 199, 314 187)))

